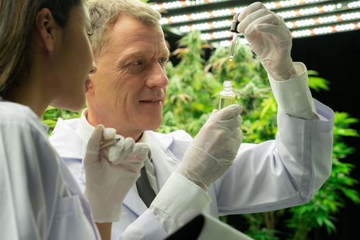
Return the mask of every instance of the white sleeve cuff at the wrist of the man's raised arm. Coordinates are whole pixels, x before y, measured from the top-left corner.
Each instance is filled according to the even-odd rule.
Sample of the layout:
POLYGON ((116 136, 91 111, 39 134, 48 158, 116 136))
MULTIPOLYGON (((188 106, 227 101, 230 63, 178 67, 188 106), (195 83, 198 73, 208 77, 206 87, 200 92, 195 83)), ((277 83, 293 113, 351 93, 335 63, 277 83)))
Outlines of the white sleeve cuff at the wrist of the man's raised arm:
POLYGON ((319 119, 309 88, 307 67, 301 62, 294 62, 297 76, 278 81, 269 77, 270 85, 278 108, 291 117, 319 119))

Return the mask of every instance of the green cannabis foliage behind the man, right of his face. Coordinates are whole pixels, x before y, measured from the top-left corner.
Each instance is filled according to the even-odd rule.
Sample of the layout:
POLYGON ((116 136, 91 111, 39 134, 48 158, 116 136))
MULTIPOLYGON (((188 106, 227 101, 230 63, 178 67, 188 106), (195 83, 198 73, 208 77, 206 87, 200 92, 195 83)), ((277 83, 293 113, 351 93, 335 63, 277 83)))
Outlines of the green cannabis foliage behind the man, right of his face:
MULTIPOLYGON (((237 103, 243 106, 243 142, 261 143, 274 139, 277 105, 259 60, 248 45, 237 45, 232 62, 227 58, 229 50, 221 47, 213 50, 206 62, 202 56, 204 48, 208 47, 208 43, 201 40, 200 32, 191 32, 173 51, 180 62, 175 67, 171 63, 167 65, 169 86, 160 132, 184 129, 195 136, 209 112, 217 108, 217 93, 222 82, 232 80, 237 103)), ((315 71, 309 71, 309 86, 313 91, 329 90, 328 82, 318 77, 315 71)), ((245 232, 254 239, 307 239, 315 228, 326 228, 329 234, 333 232, 336 213, 345 207, 344 197, 357 204, 360 202, 355 190, 357 180, 350 176, 354 165, 341 161, 354 152, 344 142, 344 136, 359 136, 350 128, 355 122, 357 119, 346 112, 335 112, 331 177, 308 204, 231 217, 228 222, 241 230, 244 230, 241 225, 247 226, 245 232)), ((227 221, 226 217, 221 219, 227 221)))

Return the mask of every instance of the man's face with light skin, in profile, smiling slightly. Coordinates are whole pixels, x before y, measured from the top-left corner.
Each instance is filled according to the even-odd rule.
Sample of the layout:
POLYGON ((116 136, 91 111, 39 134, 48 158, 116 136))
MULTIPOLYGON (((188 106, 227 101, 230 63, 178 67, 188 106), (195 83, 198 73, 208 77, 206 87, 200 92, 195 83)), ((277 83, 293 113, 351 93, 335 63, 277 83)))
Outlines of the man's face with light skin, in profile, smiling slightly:
POLYGON ((160 127, 169 57, 163 31, 122 15, 107 36, 86 94, 94 115, 90 123, 103 123, 124 136, 160 127))

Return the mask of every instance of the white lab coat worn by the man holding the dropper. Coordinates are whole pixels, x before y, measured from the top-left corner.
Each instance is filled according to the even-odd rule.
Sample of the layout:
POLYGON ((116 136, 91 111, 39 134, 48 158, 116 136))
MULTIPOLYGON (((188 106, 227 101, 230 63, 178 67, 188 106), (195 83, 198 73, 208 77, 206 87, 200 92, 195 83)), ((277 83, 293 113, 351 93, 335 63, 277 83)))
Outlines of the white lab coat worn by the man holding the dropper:
MULTIPOLYGON (((331 173, 334 117, 330 108, 316 100, 314 103, 322 120, 289 117, 279 110, 276 140, 258 145, 241 144, 232 167, 208 189, 213 202, 207 213, 218 217, 272 211, 304 204, 311 199, 331 173)), ((75 178, 84 185, 81 170, 84 143, 75 132, 79 124, 80 119, 59 119, 50 141, 75 178)), ((146 131, 145 134, 152 149, 158 189, 161 189, 192 139, 184 131, 170 134, 146 131)), ((186 197, 186 193, 178 197, 186 197)), ((158 222, 150 219, 153 217, 136 191, 131 189, 123 202, 121 221, 112 227, 113 239, 116 236, 131 236, 130 239, 164 237, 158 222)))

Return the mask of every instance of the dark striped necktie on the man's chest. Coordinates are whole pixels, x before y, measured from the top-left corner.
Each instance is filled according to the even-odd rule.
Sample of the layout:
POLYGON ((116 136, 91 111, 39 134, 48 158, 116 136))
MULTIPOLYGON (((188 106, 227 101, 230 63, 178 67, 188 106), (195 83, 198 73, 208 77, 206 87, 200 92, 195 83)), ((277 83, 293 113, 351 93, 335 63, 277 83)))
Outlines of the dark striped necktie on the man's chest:
POLYGON ((147 178, 147 173, 144 167, 140 170, 140 177, 136 180, 136 189, 138 189, 139 196, 141 200, 143 200, 144 204, 149 208, 150 204, 156 197, 154 189, 152 189, 152 185, 149 182, 149 178, 147 178))

